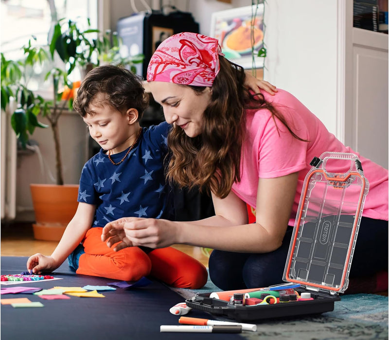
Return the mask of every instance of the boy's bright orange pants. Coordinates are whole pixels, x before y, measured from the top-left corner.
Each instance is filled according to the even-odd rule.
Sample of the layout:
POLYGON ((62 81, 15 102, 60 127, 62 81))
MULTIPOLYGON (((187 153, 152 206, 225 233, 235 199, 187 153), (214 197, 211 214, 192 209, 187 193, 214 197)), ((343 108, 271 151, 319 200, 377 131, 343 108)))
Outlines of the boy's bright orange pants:
POLYGON ((182 251, 172 247, 154 249, 148 254, 138 247, 113 251, 101 241, 102 229, 90 228, 85 235, 85 254, 80 256, 77 274, 122 281, 151 275, 169 286, 191 289, 207 283, 207 269, 182 251))

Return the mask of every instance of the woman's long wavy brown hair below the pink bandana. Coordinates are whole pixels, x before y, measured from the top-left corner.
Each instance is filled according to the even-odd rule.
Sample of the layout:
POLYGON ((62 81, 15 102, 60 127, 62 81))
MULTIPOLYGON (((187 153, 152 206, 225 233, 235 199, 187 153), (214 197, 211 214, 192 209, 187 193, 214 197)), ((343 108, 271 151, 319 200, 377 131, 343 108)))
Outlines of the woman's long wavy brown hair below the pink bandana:
MULTIPOLYGON (((212 191, 225 198, 232 184, 240 181, 240 159, 245 138, 245 109, 268 109, 289 132, 299 138, 285 119, 262 94, 251 94, 245 88, 246 74, 239 65, 219 56, 220 71, 212 85, 211 102, 204 111, 201 135, 188 137, 180 127, 168 135, 170 155, 167 178, 180 187, 212 191)), ((204 87, 191 87, 196 93, 204 87)))

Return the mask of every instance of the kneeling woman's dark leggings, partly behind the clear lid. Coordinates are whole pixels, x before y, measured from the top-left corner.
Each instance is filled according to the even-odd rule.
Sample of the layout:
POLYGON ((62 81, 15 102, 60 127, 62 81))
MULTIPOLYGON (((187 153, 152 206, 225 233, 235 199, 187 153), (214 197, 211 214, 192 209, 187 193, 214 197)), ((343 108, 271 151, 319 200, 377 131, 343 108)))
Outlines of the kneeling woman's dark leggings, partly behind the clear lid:
MULTIPOLYGON (((212 282, 221 290, 266 287, 283 283, 283 270, 293 227, 282 246, 268 253, 214 250, 209 259, 212 282)), ((388 270, 388 221, 362 217, 349 277, 371 276, 388 270)))

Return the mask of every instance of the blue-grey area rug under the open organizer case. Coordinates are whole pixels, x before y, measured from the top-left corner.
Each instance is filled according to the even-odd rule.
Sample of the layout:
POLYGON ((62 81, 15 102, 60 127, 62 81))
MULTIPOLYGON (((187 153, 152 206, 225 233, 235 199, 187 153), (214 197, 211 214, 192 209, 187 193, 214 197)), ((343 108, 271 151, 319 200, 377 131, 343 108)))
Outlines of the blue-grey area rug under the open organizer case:
MULTIPOLYGON (((197 293, 219 290, 211 280, 199 290, 175 289, 184 299, 190 299, 197 293)), ((209 315, 209 319, 230 321, 212 315, 209 315)), ((342 295, 341 301, 335 302, 332 312, 300 318, 262 320, 257 323, 257 332, 244 332, 242 336, 250 340, 388 339, 388 297, 375 294, 342 295)))

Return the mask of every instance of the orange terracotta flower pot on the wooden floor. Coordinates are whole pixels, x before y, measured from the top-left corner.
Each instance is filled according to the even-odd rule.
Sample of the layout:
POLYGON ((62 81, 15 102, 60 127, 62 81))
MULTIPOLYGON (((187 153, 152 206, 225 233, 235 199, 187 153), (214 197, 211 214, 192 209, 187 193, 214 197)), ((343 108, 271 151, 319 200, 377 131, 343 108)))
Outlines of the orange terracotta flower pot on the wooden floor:
POLYGON ((34 237, 59 241, 74 216, 78 185, 30 184, 35 211, 34 237))

